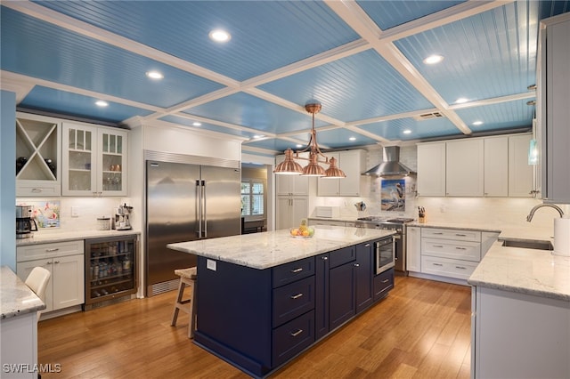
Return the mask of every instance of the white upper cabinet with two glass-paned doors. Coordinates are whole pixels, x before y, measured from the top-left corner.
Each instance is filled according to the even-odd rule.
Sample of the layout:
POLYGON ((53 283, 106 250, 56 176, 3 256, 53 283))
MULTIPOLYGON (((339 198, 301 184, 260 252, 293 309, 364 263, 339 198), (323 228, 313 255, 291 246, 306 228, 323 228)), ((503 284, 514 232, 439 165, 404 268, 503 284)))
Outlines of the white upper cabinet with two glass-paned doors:
POLYGON ((126 196, 126 130, 64 122, 62 133, 62 195, 126 196))

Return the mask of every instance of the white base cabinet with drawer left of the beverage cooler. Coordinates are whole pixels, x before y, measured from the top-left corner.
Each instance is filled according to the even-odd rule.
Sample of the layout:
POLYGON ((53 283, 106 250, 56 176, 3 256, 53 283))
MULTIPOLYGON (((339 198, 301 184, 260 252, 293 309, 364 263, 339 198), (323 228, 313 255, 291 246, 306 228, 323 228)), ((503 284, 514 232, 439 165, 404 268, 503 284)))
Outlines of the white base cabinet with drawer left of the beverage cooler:
POLYGON ((85 259, 83 240, 20 246, 16 252, 16 273, 22 280, 36 266, 52 273, 45 290, 45 310, 79 305, 85 299, 85 259))

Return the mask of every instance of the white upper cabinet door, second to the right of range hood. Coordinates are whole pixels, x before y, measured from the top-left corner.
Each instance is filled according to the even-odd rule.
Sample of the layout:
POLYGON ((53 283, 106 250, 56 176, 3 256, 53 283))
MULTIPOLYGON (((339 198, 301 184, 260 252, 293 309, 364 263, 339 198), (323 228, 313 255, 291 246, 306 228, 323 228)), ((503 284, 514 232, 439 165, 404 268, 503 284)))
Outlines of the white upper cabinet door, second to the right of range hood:
POLYGON ((483 140, 446 142, 445 194, 483 196, 483 140))

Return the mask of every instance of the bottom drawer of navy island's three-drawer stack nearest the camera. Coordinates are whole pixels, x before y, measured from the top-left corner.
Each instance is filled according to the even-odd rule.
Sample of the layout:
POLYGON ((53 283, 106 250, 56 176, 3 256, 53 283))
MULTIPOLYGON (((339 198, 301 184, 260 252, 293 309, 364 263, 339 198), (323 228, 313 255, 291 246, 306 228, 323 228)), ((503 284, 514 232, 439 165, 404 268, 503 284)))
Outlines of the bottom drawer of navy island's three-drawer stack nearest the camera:
POLYGON ((314 343, 314 310, 273 329, 273 367, 295 357, 314 343))

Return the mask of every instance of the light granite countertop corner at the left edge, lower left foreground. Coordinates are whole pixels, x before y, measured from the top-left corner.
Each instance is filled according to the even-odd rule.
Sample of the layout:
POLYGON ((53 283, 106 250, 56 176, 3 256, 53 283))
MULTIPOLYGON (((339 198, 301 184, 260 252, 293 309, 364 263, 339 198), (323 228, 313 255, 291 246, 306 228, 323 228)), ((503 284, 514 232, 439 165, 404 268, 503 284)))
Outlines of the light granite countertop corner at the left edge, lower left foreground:
POLYGON ((45 310, 45 303, 8 266, 0 266, 0 318, 45 310))

